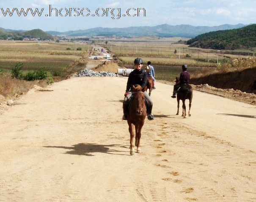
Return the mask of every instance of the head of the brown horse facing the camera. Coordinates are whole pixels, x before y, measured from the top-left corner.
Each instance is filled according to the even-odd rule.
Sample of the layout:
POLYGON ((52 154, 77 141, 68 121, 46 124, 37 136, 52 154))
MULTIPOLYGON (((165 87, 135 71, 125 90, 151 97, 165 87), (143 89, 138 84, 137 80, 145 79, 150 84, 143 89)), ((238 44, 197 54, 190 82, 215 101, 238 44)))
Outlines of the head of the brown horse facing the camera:
POLYGON ((135 113, 137 115, 142 115, 143 109, 146 109, 146 105, 144 102, 144 93, 142 92, 142 88, 140 85, 133 85, 132 86, 133 89, 133 106, 134 106, 134 110, 135 113))

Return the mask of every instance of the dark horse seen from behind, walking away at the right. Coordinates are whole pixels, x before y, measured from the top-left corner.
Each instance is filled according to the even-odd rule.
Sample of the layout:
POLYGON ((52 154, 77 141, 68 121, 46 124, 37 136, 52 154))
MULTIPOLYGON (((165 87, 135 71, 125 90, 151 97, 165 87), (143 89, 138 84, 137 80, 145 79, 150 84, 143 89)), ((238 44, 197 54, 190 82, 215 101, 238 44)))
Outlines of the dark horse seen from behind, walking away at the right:
MULTIPOLYGON (((179 79, 176 77, 176 83, 179 81, 179 79)), ((178 102, 178 110, 176 115, 179 115, 179 100, 182 100, 182 116, 183 118, 186 118, 186 105, 185 100, 189 100, 189 110, 188 110, 188 116, 191 116, 190 114, 190 108, 193 98, 193 89, 190 85, 181 86, 180 89, 177 91, 177 102, 178 102)))

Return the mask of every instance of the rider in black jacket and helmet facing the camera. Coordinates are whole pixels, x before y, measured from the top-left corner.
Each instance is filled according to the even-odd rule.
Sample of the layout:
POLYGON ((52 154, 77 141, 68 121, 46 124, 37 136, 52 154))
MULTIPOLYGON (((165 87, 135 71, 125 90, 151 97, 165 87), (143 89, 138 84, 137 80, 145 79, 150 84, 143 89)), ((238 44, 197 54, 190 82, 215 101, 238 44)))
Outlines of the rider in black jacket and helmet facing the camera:
MULTIPOLYGON (((124 102, 123 102, 123 110, 124 116, 123 120, 127 120, 127 108, 128 108, 128 99, 132 96, 132 85, 139 84, 142 88, 144 88, 147 84, 147 74, 145 70, 142 70, 143 60, 141 58, 136 58, 134 60, 135 70, 133 70, 128 77, 126 91, 124 93, 124 102)), ((144 91, 144 95, 146 99, 149 101, 149 120, 153 120, 154 116, 152 113, 153 101, 149 94, 144 91)))

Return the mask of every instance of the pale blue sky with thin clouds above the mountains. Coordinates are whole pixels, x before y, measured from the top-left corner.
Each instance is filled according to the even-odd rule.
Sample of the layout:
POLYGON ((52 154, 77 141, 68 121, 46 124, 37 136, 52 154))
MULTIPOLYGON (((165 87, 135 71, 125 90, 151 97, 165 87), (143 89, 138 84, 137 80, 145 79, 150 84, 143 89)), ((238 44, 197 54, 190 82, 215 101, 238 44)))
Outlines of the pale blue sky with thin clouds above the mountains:
POLYGON ((165 23, 193 26, 256 23, 256 0, 0 0, 0 27, 5 29, 68 31, 94 27, 155 26, 165 23), (59 13, 55 16, 56 9, 49 16, 49 5, 58 12, 62 8, 62 16, 59 13), (18 11, 21 8, 25 11, 27 8, 38 8, 42 14, 40 17, 32 16, 29 11, 27 16, 17 16, 14 11, 12 16, 4 16, 3 11, 6 12, 7 8, 10 11, 13 8, 18 11), (79 11, 79 16, 74 8, 79 11), (84 16, 80 13, 83 8, 84 16), (105 15, 96 16, 97 8, 99 15, 104 14, 103 12, 105 15), (109 8, 108 16, 106 8, 109 8), (116 8, 113 15, 110 13, 111 8, 116 8), (120 12, 117 8, 121 8, 120 12), (127 16, 126 11, 129 8, 130 16, 127 16), (144 8, 146 16, 143 16, 143 10, 140 10, 140 16, 132 16, 137 13, 137 8, 144 8), (119 19, 118 13, 121 13, 119 19), (111 19, 111 16, 115 19, 111 19))

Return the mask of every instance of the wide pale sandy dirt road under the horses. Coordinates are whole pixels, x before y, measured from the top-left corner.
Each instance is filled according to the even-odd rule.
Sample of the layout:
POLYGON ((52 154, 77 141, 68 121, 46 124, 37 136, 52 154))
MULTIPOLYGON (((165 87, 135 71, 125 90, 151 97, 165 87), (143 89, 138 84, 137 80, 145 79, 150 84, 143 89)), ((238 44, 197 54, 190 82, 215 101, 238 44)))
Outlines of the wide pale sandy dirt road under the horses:
POLYGON ((0 201, 256 201, 256 107, 194 92, 176 114, 152 92, 142 154, 121 121, 127 78, 71 78, 0 115, 0 201))

